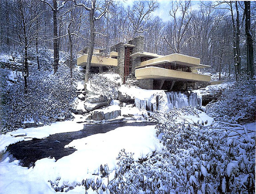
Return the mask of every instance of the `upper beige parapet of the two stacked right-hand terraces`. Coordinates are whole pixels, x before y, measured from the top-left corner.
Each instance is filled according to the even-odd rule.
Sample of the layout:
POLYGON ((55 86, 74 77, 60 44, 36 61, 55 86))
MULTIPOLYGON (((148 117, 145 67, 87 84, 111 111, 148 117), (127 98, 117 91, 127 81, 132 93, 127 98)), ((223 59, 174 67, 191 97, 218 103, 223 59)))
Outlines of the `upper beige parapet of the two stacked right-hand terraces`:
POLYGON ((179 65, 184 65, 184 66, 190 66, 190 67, 195 67, 195 68, 203 68, 203 67, 209 67, 200 64, 200 59, 192 56, 186 56, 186 55, 181 55, 181 54, 171 54, 171 55, 166 55, 166 56, 160 56, 154 59, 150 59, 148 61, 143 61, 141 62, 139 67, 143 66, 154 66, 160 63, 176 63, 179 65))

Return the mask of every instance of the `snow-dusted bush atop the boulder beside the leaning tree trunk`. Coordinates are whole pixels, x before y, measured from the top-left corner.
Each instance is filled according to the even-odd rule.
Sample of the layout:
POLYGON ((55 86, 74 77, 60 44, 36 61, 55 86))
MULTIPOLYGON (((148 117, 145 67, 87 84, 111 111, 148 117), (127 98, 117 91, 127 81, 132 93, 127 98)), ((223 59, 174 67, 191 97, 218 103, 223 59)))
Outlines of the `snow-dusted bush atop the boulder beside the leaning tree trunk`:
POLYGON ((118 87, 120 87, 120 76, 112 74, 112 80, 104 74, 92 74, 88 83, 91 90, 96 94, 103 94, 112 100, 118 98, 118 87))

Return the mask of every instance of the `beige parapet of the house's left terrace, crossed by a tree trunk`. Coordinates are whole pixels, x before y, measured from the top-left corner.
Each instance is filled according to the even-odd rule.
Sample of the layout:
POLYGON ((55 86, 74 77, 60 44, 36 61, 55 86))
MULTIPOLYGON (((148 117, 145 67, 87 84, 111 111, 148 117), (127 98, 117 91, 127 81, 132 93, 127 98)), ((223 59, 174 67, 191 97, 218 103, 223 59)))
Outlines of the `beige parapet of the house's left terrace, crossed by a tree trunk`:
MULTIPOLYGON (((78 57, 77 65, 86 66, 87 57, 87 54, 78 57)), ((93 55, 91 59, 91 66, 117 66, 117 59, 93 55)))

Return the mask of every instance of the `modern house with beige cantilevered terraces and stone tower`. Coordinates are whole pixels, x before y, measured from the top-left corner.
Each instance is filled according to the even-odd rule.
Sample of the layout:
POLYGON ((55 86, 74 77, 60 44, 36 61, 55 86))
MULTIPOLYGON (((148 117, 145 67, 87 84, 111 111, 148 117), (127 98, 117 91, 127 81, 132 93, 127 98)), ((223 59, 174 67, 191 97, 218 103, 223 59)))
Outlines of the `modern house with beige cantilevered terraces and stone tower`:
MULTIPOLYGON (((77 65, 85 66, 87 56, 87 49, 80 51, 77 65)), ((112 46, 110 55, 95 49, 91 61, 92 71, 104 72, 111 67, 124 83, 136 78, 136 84, 144 89, 180 91, 194 88, 195 83, 205 85, 211 81, 210 76, 197 73, 198 69, 209 67, 200 64, 199 58, 177 53, 161 56, 144 52, 144 36, 112 46)))

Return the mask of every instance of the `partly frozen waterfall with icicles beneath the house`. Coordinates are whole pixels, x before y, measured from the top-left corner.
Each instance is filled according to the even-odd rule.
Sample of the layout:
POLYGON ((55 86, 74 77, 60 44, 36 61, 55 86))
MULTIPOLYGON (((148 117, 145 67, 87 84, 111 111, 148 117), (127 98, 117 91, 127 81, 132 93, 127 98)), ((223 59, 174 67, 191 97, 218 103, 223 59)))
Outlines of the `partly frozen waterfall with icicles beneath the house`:
POLYGON ((197 92, 186 95, 181 92, 158 92, 152 93, 150 97, 135 98, 135 107, 153 112, 155 110, 165 111, 173 107, 202 106, 202 96, 197 92))

